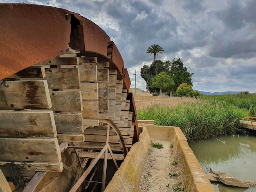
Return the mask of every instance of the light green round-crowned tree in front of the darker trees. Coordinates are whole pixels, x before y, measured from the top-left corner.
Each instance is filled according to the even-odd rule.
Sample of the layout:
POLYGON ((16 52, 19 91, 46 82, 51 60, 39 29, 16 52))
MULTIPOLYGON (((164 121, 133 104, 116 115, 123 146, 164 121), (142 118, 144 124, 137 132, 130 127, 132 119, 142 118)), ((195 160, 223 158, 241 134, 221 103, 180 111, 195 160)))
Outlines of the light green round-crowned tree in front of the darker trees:
POLYGON ((163 71, 162 73, 157 74, 152 79, 152 87, 159 88, 160 89, 160 95, 162 95, 162 89, 164 91, 171 92, 174 85, 175 85, 175 83, 171 79, 171 76, 168 76, 165 71, 163 71))

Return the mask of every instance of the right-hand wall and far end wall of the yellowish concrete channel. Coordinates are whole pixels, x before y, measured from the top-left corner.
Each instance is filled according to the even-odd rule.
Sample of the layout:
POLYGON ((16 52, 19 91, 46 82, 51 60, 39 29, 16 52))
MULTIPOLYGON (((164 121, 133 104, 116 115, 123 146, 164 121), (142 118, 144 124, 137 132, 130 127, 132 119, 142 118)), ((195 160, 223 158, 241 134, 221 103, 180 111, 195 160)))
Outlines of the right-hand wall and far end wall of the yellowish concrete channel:
POLYGON ((173 141, 173 152, 185 192, 215 192, 179 127, 148 126, 147 130, 152 140, 173 141))

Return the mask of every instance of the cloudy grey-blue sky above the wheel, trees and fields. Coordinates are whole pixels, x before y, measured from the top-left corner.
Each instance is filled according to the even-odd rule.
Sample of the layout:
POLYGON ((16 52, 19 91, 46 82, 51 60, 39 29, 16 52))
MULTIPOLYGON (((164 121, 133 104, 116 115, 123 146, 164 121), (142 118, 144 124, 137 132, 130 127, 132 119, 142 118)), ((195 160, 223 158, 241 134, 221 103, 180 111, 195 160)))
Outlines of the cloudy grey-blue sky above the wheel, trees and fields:
MULTIPOLYGON (((256 92, 256 0, 22 0, 80 13, 115 42, 135 86, 146 89, 140 68, 181 58, 194 73, 193 89, 256 92)), ((20 0, 0 2, 22 3, 20 0)))

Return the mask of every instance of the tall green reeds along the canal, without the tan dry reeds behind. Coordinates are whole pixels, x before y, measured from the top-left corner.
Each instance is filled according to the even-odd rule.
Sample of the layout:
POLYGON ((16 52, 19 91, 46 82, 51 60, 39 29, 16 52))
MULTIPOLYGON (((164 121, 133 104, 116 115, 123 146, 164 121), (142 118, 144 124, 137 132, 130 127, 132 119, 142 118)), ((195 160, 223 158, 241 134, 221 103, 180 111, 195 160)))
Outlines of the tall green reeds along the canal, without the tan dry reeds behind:
MULTIPOLYGON (((171 100, 166 101, 171 102, 171 100)), ((230 102, 215 97, 193 99, 175 107, 168 103, 153 104, 137 110, 138 119, 154 119, 155 125, 177 126, 188 141, 207 139, 226 134, 242 134, 240 119, 248 115, 247 108, 240 109, 230 102)))

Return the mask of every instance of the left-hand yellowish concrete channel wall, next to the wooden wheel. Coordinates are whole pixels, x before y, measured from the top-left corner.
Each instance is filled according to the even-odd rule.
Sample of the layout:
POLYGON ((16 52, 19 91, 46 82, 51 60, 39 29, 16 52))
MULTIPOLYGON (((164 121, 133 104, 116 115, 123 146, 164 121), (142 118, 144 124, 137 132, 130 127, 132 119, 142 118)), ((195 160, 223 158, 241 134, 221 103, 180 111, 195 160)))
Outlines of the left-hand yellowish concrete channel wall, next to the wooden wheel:
POLYGON ((150 138, 146 128, 139 135, 139 141, 132 145, 105 192, 137 192, 141 175, 148 156, 150 138))

